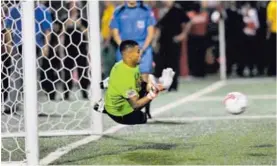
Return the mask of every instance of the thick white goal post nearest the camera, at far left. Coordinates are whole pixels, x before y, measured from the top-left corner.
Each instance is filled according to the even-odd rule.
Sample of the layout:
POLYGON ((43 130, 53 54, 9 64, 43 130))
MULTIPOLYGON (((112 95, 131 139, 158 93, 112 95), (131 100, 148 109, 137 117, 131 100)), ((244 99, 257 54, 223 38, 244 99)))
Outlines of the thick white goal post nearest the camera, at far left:
POLYGON ((25 153, 27 165, 38 165, 38 113, 37 113, 37 66, 35 39, 35 10, 32 1, 22 1, 23 42, 23 90, 25 153))

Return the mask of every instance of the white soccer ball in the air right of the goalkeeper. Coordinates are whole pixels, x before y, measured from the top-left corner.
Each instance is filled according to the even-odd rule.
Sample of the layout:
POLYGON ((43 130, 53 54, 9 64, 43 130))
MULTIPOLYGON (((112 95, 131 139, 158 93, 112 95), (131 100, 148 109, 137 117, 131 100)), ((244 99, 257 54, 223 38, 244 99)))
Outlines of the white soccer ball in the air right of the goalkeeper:
POLYGON ((238 115, 246 110, 247 97, 240 92, 231 92, 225 96, 223 103, 228 113, 238 115))

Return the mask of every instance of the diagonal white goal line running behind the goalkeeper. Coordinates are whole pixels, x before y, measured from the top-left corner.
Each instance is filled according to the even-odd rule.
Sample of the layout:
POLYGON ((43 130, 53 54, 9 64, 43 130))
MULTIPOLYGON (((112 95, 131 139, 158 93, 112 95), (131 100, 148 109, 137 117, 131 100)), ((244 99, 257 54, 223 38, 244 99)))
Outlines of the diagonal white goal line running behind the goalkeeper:
MULTIPOLYGON (((155 116, 155 115, 161 114, 163 112, 170 111, 173 108, 178 107, 178 106, 180 106, 184 103, 196 100, 197 98, 199 98, 203 95, 214 92, 217 89, 220 89, 221 87, 223 87, 224 85, 226 85, 225 81, 215 82, 215 83, 213 83, 213 84, 211 84, 211 85, 209 85, 209 86, 207 86, 203 89, 200 89, 199 91, 197 91, 197 92, 195 92, 191 95, 188 95, 188 96, 183 97, 179 100, 176 100, 175 102, 166 104, 164 106, 161 106, 160 108, 156 108, 156 109, 152 110, 151 111, 152 115, 155 116)), ((113 133, 117 132, 118 130, 120 130, 124 127, 127 127, 127 126, 126 125, 116 125, 114 127, 109 128, 108 130, 104 131, 103 134, 113 134, 113 133)), ((67 154, 71 150, 73 150, 73 149, 75 149, 79 146, 85 145, 87 143, 90 143, 92 141, 96 141, 100 138, 101 138, 101 136, 92 135, 92 136, 88 136, 88 137, 86 137, 82 140, 79 140, 79 141, 73 142, 71 144, 68 144, 65 147, 58 148, 56 151, 50 153, 45 158, 41 159, 40 164, 41 165, 48 165, 48 164, 52 163, 53 161, 59 159, 61 156, 67 154)))

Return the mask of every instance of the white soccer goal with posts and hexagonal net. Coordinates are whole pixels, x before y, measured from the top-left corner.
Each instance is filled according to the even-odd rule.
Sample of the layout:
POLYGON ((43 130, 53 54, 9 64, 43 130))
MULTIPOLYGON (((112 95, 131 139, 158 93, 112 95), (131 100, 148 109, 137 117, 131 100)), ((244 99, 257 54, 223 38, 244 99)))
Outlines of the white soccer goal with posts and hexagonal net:
MULTIPOLYGON (((92 107, 102 96, 99 85, 102 79, 99 1, 87 1, 85 3, 79 1, 61 1, 61 7, 57 9, 51 5, 46 7, 44 4, 41 4, 41 2, 42 1, 20 1, 20 5, 1 5, 1 11, 3 11, 4 8, 7 10, 7 16, 5 18, 13 17, 11 12, 12 9, 17 8, 20 12, 21 17, 19 19, 22 21, 21 35, 23 48, 19 56, 23 65, 23 73, 18 72, 21 70, 17 70, 17 67, 9 71, 7 74, 8 77, 10 77, 9 87, 7 88, 8 97, 6 99, 7 101, 3 101, 4 99, 2 99, 1 104, 1 110, 11 108, 11 106, 7 104, 8 102, 14 102, 15 105, 21 104, 21 107, 15 107, 14 113, 2 111, 1 114, 1 162, 5 163, 22 162, 25 160, 28 165, 38 165, 39 137, 41 136, 101 135, 103 132, 102 114, 93 111, 92 107), (70 6, 72 2, 74 3, 73 7, 70 6), (54 16, 52 22, 50 22, 45 15, 41 20, 38 20, 35 15, 38 8, 42 12, 45 12, 45 15, 47 14, 46 12, 52 12, 52 17, 54 16), (70 14, 73 10, 72 8, 79 12, 79 15, 76 15, 79 18, 71 18, 70 14), (60 14, 62 12, 65 14, 60 14), (64 15, 70 18, 61 20, 64 15), (67 22, 70 19, 71 21, 67 22), (81 19, 82 22, 77 23, 77 21, 81 19), (48 35, 57 36, 57 45, 53 46, 51 43, 49 44, 50 41, 48 41, 47 45, 49 49, 57 50, 54 52, 54 56, 58 56, 57 54, 60 53, 57 58, 60 66, 57 69, 51 64, 51 61, 53 61, 55 57, 45 58, 42 55, 42 51, 40 53, 36 51, 36 35, 42 33, 41 31, 43 31, 44 26, 42 24, 47 24, 47 21, 51 26, 48 35), (55 26, 60 23, 64 29, 70 29, 70 24, 80 26, 79 29, 74 29, 73 33, 76 32, 77 35, 81 36, 81 40, 83 41, 80 41, 80 45, 83 44, 85 47, 81 48, 80 45, 74 43, 74 41, 72 42, 72 39, 70 40, 71 43, 69 43, 70 46, 65 46, 65 38, 71 38, 73 33, 68 33, 66 30, 62 33, 57 33, 55 26), (35 26, 41 26, 39 32, 35 29, 35 26), (68 68, 67 64, 65 64, 65 61, 68 60, 68 47, 77 48, 79 53, 78 55, 72 55, 72 65, 74 66, 71 66, 71 68, 68 68), (85 51, 86 53, 83 53, 84 48, 87 48, 87 51, 85 51), (82 60, 79 60, 81 58, 82 60), (42 70, 41 68, 44 61, 48 61, 50 66, 42 70), (85 65, 81 64, 80 67, 79 63, 85 63, 85 65), (73 84, 72 87, 69 87, 70 84, 68 80, 64 80, 65 70, 68 70, 70 73, 70 80, 73 84), (40 79, 42 77, 42 74, 40 74, 41 71, 46 75, 44 80, 40 79), (49 78, 49 76, 51 76, 51 74, 48 74, 49 71, 55 73, 57 77, 56 80, 51 80, 49 78), (19 73, 18 78, 12 78, 13 72, 19 73), (62 74, 59 75, 60 72, 62 74), (76 73, 77 78, 75 76, 76 73), (85 78, 89 80, 89 85, 84 88, 82 82, 85 78), (19 79, 23 81, 23 87, 17 89, 12 83, 19 79), (43 84, 45 81, 53 85, 54 89, 52 91, 44 89, 43 84), (11 100, 10 92, 12 90, 16 90, 18 96, 21 93, 24 97, 17 96, 16 101, 9 101, 11 100), (55 91, 54 99, 50 99, 49 96, 53 91, 55 91), (65 99, 64 97, 66 91, 69 91, 69 99, 65 99), (24 155, 23 158, 18 159, 13 156, 13 153, 24 153, 24 155)), ((13 20, 14 23, 18 21, 17 19, 13 20)), ((15 27, 9 28, 13 34, 15 27)), ((47 38, 45 34, 44 38, 47 38)), ((16 46, 14 48, 16 50, 19 49, 16 46)), ((14 63, 12 63, 11 66, 13 64, 18 64, 19 59, 13 59, 12 62, 14 63)), ((1 63, 3 64, 3 62, 1 63)))

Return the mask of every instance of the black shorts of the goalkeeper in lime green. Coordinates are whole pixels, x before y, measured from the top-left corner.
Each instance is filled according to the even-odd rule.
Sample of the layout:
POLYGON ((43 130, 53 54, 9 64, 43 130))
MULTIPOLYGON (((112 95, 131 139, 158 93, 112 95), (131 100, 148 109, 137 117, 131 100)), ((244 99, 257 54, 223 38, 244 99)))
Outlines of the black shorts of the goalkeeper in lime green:
POLYGON ((114 116, 105 111, 110 118, 115 122, 125 125, 145 124, 147 122, 146 113, 142 112, 141 109, 135 109, 133 112, 124 116, 114 116))

